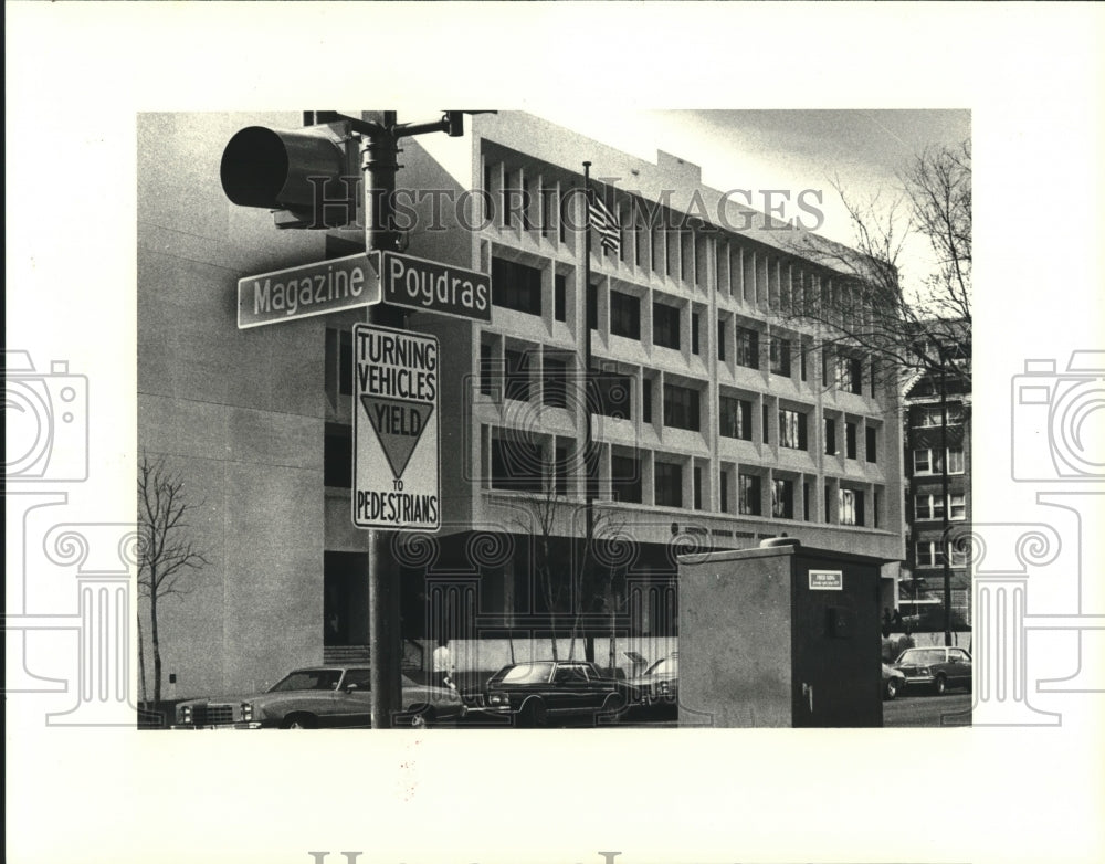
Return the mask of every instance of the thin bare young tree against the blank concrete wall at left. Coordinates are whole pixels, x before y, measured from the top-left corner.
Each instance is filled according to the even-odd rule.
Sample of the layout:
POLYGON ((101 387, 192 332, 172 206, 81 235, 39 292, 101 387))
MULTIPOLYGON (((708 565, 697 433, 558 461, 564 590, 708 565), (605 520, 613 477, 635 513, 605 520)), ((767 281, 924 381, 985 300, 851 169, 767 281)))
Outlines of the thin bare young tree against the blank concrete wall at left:
POLYGON ((138 592, 149 600, 155 703, 161 700, 158 603, 190 593, 194 586, 189 577, 209 563, 189 537, 188 518, 197 506, 201 505, 188 502, 183 480, 168 468, 164 457, 150 460, 143 454, 138 463, 138 592))

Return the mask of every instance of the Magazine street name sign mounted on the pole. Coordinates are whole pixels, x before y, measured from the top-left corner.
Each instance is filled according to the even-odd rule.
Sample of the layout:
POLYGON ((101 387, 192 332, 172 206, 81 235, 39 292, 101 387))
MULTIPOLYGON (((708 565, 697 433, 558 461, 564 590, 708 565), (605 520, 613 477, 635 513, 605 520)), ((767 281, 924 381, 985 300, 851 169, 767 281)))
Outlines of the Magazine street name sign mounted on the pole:
POLYGON ((344 259, 246 276, 238 281, 238 328, 296 320, 380 302, 380 256, 344 259))

